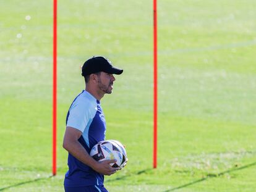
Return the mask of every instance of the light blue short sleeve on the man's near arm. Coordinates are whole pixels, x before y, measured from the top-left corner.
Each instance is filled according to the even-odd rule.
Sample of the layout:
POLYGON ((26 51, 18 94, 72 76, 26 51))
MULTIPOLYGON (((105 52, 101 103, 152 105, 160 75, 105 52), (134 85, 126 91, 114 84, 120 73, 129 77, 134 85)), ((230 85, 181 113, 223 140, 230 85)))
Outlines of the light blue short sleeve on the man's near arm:
POLYGON ((67 127, 73 127, 80 131, 85 130, 87 124, 92 119, 92 110, 90 110, 90 105, 85 104, 73 104, 69 109, 69 117, 67 119, 67 127))

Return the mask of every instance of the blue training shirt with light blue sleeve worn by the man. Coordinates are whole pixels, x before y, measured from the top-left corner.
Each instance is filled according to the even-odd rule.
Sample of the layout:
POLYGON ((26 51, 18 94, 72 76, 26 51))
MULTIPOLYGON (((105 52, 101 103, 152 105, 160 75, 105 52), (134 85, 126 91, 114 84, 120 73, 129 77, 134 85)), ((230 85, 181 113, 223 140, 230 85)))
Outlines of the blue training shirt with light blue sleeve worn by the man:
MULTIPOLYGON (((82 132, 79 143, 90 154, 90 150, 99 141, 105 140, 106 121, 100 101, 83 90, 72 102, 67 112, 66 126, 82 132)), ((65 175, 65 186, 103 185, 104 176, 95 172, 69 153, 69 170, 65 175)))

